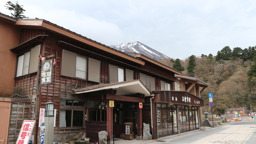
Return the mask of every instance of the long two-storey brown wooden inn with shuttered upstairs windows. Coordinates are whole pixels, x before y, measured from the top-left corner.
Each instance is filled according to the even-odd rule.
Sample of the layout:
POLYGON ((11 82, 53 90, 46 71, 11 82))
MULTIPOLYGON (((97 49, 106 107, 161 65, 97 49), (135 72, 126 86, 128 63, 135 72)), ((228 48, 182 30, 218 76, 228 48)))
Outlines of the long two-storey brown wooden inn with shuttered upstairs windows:
MULTIPOLYGON (((36 120, 37 135, 39 110, 46 102, 55 103, 57 142, 83 132, 95 142, 98 132, 105 130, 108 143, 113 143, 114 136, 125 133, 125 122, 134 123, 137 139, 142 139, 143 123, 150 124, 154 139, 200 128, 200 93, 210 85, 43 19, 14 19, 0 13, 0 20, 0 29, 5 29, 0 34, 0 56, 11 62, 1 64, 7 71, 1 71, 6 84, 0 97, 6 98, 0 99, 0 110, 10 113, 4 118, 10 122, 7 134, 0 133, 4 144, 14 143, 26 119, 36 120), (42 78, 45 65, 39 55, 57 62, 51 65, 49 84, 44 84, 51 78, 42 78), (8 108, 1 109, 4 106, 8 108)), ((34 143, 38 141, 34 136, 34 143)))

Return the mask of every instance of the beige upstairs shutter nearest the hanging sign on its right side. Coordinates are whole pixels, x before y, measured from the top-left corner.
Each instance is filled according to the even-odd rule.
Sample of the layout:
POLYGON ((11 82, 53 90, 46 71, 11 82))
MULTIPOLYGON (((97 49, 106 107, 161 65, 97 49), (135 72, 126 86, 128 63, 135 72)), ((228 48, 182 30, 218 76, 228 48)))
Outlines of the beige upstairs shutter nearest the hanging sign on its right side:
POLYGON ((75 77, 76 54, 63 50, 61 75, 75 77))

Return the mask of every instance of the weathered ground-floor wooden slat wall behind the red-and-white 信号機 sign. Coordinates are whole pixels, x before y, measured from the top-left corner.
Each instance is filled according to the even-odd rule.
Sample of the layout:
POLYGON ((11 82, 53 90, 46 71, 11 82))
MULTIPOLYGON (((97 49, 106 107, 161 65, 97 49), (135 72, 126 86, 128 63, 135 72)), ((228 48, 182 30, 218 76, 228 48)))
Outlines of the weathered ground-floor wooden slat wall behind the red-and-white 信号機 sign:
POLYGON ((16 142, 23 120, 31 119, 31 104, 12 103, 10 129, 9 129, 9 143, 16 142))

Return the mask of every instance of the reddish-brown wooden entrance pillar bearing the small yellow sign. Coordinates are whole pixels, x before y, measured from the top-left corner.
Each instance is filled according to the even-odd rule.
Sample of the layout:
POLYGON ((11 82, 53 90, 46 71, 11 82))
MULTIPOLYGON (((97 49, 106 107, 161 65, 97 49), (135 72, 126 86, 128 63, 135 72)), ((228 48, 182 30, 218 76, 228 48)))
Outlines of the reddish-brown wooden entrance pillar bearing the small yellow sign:
POLYGON ((109 107, 109 100, 107 100, 107 141, 113 143, 113 107, 109 107))

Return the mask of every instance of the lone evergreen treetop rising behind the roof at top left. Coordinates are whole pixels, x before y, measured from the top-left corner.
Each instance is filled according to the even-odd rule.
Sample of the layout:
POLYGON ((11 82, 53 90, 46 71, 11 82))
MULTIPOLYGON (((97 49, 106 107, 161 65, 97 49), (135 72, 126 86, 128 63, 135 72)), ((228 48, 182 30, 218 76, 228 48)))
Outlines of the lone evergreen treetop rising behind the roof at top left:
POLYGON ((18 1, 15 1, 15 4, 12 3, 11 1, 7 1, 7 3, 4 6, 6 7, 6 9, 14 11, 14 14, 11 13, 12 17, 16 19, 28 18, 25 15, 22 15, 25 12, 25 10, 22 8, 23 5, 18 4, 18 1), (9 6, 6 6, 6 5, 9 5, 9 6))

